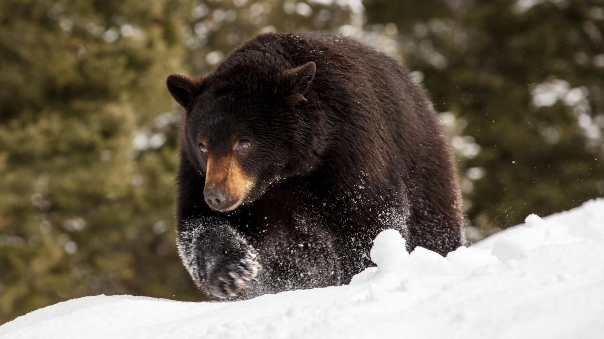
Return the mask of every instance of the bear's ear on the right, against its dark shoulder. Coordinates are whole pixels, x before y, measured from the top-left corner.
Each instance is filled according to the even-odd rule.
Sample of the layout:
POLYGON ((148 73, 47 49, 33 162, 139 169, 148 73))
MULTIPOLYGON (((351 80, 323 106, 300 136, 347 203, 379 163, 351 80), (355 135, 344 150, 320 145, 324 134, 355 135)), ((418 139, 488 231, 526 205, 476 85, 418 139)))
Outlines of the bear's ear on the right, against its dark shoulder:
POLYGON ((315 71, 316 65, 313 61, 285 70, 281 73, 280 84, 276 90, 284 95, 289 105, 307 101, 304 93, 308 90, 312 79, 315 78, 315 71))

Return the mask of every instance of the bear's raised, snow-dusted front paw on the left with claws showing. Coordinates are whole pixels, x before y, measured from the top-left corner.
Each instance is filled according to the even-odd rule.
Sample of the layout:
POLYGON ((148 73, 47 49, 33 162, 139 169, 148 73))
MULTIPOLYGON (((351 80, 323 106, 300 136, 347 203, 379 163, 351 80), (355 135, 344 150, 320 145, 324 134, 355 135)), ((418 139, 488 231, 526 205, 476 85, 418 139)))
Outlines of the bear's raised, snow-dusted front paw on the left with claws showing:
POLYGON ((258 253, 228 225, 198 220, 178 235, 178 252, 193 281, 208 296, 237 296, 254 280, 262 265, 258 253))

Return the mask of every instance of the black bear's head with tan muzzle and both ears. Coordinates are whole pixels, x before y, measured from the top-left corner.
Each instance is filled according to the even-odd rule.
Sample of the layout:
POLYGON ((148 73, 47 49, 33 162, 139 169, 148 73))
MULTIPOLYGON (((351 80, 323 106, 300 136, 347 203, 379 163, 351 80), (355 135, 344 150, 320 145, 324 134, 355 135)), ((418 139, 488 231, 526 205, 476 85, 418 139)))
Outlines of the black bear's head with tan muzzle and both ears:
POLYGON ((232 211, 280 179, 309 172, 324 149, 323 114, 309 90, 315 63, 264 60, 231 57, 203 79, 167 78, 186 111, 181 154, 205 177, 213 210, 232 211))

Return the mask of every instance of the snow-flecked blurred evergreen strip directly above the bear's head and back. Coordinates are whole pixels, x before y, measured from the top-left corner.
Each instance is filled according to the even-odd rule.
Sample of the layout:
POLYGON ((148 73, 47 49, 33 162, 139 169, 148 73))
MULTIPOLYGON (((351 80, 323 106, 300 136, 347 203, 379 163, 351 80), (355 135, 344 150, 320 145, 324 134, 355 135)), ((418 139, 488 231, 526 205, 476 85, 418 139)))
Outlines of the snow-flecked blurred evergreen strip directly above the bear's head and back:
POLYGON ((257 34, 338 31, 342 27, 362 30, 363 23, 360 0, 343 5, 330 0, 201 1, 193 7, 184 32, 185 63, 193 67, 193 74, 204 75, 257 34))

